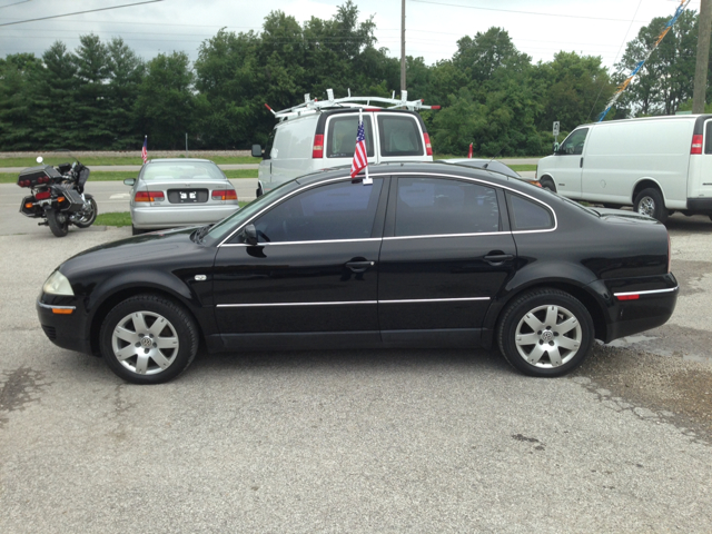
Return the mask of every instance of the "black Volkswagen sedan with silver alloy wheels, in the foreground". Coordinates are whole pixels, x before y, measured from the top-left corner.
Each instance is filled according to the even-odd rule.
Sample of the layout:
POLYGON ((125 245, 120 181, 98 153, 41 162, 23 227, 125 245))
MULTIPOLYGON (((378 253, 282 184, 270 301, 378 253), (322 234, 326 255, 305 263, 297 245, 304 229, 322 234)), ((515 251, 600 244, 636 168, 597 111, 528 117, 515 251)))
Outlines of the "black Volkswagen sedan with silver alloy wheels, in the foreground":
POLYGON ((304 176, 215 226, 138 236, 60 265, 37 309, 58 346, 169 380, 210 352, 491 347, 563 375, 594 338, 662 325, 665 227, 501 174, 437 162, 304 176))

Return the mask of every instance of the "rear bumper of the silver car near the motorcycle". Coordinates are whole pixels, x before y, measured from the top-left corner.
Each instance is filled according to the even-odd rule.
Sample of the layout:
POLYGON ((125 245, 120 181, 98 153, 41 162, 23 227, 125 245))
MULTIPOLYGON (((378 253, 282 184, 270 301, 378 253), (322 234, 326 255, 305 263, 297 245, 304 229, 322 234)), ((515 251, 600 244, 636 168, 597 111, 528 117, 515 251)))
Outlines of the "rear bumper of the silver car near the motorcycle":
POLYGON ((239 209, 237 202, 220 206, 131 206, 136 228, 160 229, 217 222, 239 209))

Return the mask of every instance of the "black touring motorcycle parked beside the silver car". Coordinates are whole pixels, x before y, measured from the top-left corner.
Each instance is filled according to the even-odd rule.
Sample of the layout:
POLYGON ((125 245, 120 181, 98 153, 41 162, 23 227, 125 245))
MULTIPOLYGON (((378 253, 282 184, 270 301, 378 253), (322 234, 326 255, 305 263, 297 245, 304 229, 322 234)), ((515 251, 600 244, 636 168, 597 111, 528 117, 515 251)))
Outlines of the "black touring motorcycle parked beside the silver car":
MULTIPOLYGON (((38 164, 42 161, 41 156, 37 158, 38 164)), ((85 192, 89 172, 79 161, 24 169, 18 177, 18 186, 31 188, 32 195, 22 199, 20 212, 44 219, 38 225, 49 226, 57 237, 65 237, 69 225, 89 228, 98 214, 93 197, 85 192)))

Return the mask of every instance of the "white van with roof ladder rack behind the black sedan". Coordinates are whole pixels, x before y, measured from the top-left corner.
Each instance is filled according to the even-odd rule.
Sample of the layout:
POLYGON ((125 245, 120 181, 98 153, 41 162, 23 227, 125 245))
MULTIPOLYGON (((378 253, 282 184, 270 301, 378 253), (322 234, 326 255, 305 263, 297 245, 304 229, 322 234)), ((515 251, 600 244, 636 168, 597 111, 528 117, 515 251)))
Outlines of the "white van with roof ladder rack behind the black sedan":
POLYGON ((253 145, 253 156, 261 157, 257 196, 307 172, 350 166, 356 147, 359 110, 364 118, 369 164, 385 161, 433 161, 433 149, 418 109, 439 109, 421 100, 378 97, 346 97, 310 100, 274 112, 278 122, 264 151, 253 145), (390 108, 376 107, 389 103, 390 108), (402 109, 397 109, 402 108, 402 109))

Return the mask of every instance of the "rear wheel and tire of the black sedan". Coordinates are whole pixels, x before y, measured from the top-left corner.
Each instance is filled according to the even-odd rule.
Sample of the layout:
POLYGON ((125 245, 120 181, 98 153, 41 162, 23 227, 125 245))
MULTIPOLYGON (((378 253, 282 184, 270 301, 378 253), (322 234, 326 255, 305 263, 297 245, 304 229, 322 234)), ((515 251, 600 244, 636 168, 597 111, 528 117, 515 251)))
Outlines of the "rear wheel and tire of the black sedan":
POLYGON ((537 289, 507 306, 497 342, 515 369, 554 377, 581 365, 593 345, 593 334, 591 315, 576 298, 557 289, 537 289))

